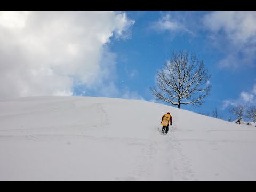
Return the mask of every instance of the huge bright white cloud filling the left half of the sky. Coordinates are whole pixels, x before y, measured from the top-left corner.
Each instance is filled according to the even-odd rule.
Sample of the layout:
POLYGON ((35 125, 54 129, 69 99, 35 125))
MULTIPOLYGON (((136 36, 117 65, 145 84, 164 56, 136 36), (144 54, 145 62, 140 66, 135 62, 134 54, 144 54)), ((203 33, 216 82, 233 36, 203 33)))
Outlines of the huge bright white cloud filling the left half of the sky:
POLYGON ((133 23, 114 11, 0 11, 0 98, 71 95, 75 83, 113 81, 107 43, 129 38, 133 23))

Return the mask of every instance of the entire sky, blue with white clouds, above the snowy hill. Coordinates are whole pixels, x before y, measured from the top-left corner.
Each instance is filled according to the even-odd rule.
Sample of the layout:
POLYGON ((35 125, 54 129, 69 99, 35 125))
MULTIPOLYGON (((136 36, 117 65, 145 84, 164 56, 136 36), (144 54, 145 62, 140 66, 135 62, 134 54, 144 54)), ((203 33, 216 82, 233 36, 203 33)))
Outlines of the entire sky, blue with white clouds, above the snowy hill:
POLYGON ((182 49, 204 61, 212 90, 201 107, 181 108, 234 119, 231 106, 256 104, 255 23, 255 11, 1 11, 0 98, 154 101, 157 70, 182 49))

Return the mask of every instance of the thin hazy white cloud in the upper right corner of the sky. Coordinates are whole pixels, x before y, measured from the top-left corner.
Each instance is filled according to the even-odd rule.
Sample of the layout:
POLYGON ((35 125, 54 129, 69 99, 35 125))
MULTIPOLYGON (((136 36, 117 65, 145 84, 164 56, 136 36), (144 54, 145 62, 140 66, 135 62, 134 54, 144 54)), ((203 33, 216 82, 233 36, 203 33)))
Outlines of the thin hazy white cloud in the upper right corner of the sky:
POLYGON ((221 68, 255 65, 255 11, 213 11, 205 15, 203 23, 213 33, 211 37, 220 49, 225 47, 228 52, 228 56, 219 62, 221 68))

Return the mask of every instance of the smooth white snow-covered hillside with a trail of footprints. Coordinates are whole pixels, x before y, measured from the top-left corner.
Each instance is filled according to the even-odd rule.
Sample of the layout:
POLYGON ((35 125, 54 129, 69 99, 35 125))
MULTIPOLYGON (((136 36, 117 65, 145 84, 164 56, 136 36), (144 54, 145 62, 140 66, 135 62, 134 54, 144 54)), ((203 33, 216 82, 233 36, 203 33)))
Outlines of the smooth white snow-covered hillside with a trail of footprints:
POLYGON ((256 181, 255 149, 253 126, 152 102, 0 100, 1 181, 256 181))

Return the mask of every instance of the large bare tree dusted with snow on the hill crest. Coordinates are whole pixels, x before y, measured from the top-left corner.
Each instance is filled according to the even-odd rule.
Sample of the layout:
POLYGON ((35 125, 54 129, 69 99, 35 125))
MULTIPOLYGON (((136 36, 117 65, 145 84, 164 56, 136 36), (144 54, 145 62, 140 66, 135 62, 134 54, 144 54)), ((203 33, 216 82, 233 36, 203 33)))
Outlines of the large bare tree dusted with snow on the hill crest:
POLYGON ((210 77, 204 62, 197 59, 196 54, 172 52, 171 59, 157 72, 158 89, 150 87, 150 90, 157 100, 177 105, 178 108, 187 104, 197 107, 210 93, 210 77))

